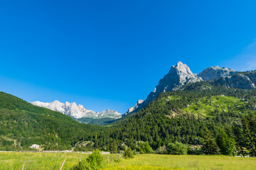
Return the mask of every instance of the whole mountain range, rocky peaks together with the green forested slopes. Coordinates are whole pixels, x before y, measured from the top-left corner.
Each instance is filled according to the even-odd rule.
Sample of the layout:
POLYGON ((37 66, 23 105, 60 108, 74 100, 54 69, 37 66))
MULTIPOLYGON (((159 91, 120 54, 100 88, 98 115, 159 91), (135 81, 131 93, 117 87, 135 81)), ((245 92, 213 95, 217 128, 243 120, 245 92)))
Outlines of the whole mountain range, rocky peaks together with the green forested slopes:
MULTIPOLYGON (((193 74, 186 64, 178 62, 146 100, 139 100, 123 116, 110 110, 97 113, 76 103, 31 104, 0 92, 0 150, 24 150, 37 144, 46 150, 117 152, 121 145, 139 150, 140 141, 148 142, 154 150, 170 142, 201 146, 206 132, 215 140, 219 130, 234 141, 233 126, 240 135, 256 133, 255 84, 256 70, 209 67, 193 74)), ((256 153, 255 147, 247 145, 256 146, 255 140, 249 140, 240 148, 256 153)))

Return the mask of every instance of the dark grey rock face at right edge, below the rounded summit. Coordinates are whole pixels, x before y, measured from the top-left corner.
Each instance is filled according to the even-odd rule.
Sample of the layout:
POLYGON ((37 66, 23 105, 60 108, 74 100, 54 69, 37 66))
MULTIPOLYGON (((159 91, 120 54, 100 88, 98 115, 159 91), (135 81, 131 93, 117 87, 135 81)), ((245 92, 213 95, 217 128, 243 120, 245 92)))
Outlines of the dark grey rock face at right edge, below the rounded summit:
POLYGON ((255 89, 256 72, 234 74, 231 77, 221 77, 212 81, 213 85, 222 85, 237 89, 255 89))

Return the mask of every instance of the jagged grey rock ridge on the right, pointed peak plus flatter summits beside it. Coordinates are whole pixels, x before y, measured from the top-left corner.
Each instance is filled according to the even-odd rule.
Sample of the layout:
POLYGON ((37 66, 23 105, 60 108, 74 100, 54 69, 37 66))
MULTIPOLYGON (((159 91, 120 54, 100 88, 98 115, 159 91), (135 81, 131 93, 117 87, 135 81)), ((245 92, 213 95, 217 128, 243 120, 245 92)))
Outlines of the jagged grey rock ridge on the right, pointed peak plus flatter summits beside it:
POLYGON ((191 69, 182 62, 178 62, 176 66, 172 66, 169 73, 159 81, 146 100, 137 101, 136 105, 129 108, 126 115, 134 113, 147 106, 151 101, 161 94, 161 92, 174 91, 181 89, 186 84, 191 84, 197 81, 211 81, 213 85, 223 85, 238 89, 255 89, 256 88, 256 72, 238 73, 234 69, 218 66, 208 67, 199 74, 193 74, 191 69))

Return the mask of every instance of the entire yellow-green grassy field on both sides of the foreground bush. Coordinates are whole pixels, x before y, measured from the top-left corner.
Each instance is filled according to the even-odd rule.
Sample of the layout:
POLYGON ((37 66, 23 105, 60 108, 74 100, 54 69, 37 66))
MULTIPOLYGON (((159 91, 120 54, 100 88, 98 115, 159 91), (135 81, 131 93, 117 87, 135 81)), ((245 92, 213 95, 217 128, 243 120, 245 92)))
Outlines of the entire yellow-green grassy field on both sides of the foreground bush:
MULTIPOLYGON (((24 159, 25 169, 60 169, 66 158, 63 169, 71 169, 78 164, 80 157, 87 154, 78 153, 0 153, 0 169, 22 169, 24 159)), ((256 158, 235 158, 221 156, 191 156, 191 155, 159 155, 140 154, 134 159, 121 159, 119 156, 105 155, 105 169, 256 169, 256 158), (108 162, 108 164, 107 164, 108 162), (159 167, 159 168, 157 168, 159 167)))

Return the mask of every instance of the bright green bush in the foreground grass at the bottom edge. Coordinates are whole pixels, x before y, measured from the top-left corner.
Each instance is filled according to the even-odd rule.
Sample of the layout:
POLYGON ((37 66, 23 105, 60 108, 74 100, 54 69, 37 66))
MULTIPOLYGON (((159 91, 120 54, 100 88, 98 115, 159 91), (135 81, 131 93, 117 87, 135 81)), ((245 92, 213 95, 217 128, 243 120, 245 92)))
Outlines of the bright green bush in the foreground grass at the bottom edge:
POLYGON ((103 166, 103 157, 100 154, 99 150, 95 150, 92 154, 87 157, 87 159, 83 159, 77 166, 73 168, 73 170, 94 170, 100 169, 103 166))

